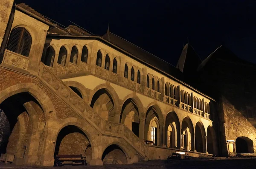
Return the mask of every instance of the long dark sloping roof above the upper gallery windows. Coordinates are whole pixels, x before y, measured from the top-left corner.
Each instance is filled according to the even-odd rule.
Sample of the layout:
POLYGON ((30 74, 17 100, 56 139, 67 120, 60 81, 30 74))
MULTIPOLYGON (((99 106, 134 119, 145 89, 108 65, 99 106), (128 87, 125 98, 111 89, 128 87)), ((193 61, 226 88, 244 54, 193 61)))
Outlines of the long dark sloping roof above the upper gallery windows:
POLYGON ((119 48, 122 48, 125 51, 128 51, 129 53, 143 60, 144 62, 147 62, 149 65, 159 68, 163 72, 166 72, 179 79, 183 79, 182 73, 180 72, 180 70, 175 68, 170 63, 164 61, 163 59, 158 58, 157 56, 154 56, 153 54, 143 50, 137 45, 134 45, 131 42, 128 42, 122 37, 119 37, 116 34, 111 33, 109 30, 102 37, 108 40, 109 42, 113 43, 114 45, 118 46, 119 48))

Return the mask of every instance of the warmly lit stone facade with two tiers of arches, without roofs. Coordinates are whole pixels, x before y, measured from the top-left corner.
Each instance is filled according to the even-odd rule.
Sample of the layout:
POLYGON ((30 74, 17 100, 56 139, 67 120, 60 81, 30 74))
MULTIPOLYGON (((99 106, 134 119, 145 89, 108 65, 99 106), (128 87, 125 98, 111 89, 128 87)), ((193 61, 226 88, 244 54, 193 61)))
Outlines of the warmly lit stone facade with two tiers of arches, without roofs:
POLYGON ((158 69, 105 36, 61 28, 25 4, 15 5, 9 24, 1 47, 0 160, 53 166, 58 154, 81 154, 90 165, 166 159, 174 151, 202 157, 219 155, 218 143, 229 138, 215 133, 215 110, 223 106, 179 73, 158 69))

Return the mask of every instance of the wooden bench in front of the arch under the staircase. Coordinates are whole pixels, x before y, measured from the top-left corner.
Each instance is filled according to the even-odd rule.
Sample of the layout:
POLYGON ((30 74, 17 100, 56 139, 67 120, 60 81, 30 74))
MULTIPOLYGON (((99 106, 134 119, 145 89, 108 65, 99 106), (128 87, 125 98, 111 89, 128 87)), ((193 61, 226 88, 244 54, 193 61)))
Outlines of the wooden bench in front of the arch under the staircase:
POLYGON ((62 166, 64 164, 81 164, 87 165, 86 158, 80 155, 56 155, 56 166, 62 166))

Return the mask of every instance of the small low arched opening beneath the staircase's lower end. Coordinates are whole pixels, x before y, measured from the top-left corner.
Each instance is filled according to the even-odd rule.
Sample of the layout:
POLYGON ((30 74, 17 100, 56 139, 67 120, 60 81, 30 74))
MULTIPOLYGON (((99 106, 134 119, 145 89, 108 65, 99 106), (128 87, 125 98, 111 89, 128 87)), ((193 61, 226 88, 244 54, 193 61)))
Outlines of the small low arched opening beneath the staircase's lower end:
POLYGON ((123 150, 113 144, 105 149, 102 155, 103 165, 105 164, 127 164, 127 158, 123 150))

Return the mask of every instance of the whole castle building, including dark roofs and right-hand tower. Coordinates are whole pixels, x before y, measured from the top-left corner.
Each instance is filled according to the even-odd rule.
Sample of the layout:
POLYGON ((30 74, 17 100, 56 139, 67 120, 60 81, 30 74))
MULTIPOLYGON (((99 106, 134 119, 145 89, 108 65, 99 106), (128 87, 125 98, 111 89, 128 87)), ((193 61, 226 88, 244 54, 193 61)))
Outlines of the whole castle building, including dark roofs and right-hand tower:
POLYGON ((0 9, 1 161, 53 166, 55 155, 81 154, 90 165, 130 164, 256 150, 255 109, 241 87, 253 87, 255 65, 226 48, 201 61, 186 44, 174 67, 109 30, 63 28, 13 0, 0 9))

